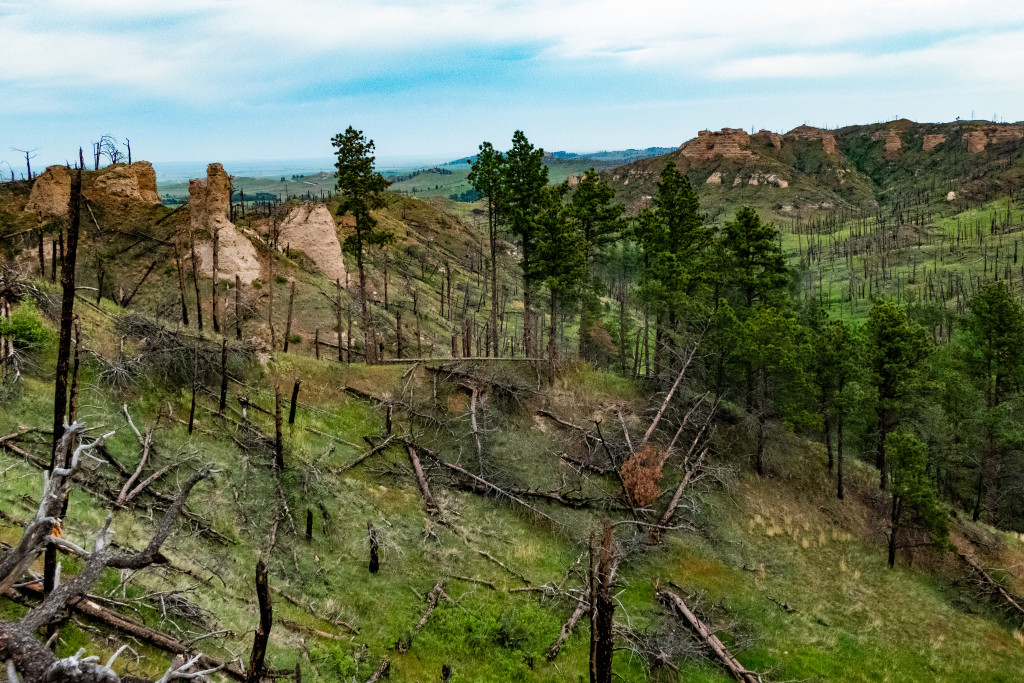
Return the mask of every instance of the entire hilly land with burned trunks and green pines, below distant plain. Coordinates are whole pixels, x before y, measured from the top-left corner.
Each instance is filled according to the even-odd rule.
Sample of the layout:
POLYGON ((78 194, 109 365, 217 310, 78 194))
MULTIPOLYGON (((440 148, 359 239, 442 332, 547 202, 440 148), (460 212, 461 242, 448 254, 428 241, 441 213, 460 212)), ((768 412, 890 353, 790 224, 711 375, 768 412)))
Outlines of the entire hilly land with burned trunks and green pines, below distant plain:
POLYGON ((7 679, 1016 680, 1021 138, 805 128, 0 184, 7 679))

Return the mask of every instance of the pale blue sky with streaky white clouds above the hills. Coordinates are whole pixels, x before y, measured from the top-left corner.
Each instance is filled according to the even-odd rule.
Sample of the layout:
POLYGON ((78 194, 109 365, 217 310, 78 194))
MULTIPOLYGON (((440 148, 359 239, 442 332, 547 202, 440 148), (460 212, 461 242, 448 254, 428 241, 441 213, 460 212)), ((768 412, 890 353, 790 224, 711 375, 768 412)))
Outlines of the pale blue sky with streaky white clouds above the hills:
MULTIPOLYGON (((0 0, 0 160, 443 161, 701 129, 1024 119, 1024 3, 0 0)), ((0 163, 0 173, 6 166, 0 163)))

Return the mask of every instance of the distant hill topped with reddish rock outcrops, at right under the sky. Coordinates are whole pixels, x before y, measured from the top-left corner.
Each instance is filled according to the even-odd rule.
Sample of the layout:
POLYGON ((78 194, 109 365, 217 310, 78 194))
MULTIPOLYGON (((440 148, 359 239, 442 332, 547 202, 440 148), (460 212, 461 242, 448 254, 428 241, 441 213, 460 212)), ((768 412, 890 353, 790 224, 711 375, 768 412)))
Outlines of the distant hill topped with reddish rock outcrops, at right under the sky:
POLYGON ((1024 185, 1022 155, 1024 123, 900 119, 835 130, 804 125, 784 134, 706 130, 666 155, 608 175, 632 212, 650 201, 662 169, 675 163, 713 220, 740 205, 786 217, 821 209, 867 211, 908 193, 982 203, 1024 185))

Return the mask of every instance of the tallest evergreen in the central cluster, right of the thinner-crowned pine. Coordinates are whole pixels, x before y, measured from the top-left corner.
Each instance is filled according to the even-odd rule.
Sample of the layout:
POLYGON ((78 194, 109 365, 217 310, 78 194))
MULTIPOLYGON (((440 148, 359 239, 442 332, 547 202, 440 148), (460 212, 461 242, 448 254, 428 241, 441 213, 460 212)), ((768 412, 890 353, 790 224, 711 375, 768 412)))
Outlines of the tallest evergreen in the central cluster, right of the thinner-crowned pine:
POLYGON ((512 148, 506 153, 505 162, 506 216, 522 249, 523 337, 526 353, 536 355, 531 261, 537 247, 538 215, 548 184, 548 167, 544 165, 544 150, 534 148, 521 130, 512 135, 512 148))

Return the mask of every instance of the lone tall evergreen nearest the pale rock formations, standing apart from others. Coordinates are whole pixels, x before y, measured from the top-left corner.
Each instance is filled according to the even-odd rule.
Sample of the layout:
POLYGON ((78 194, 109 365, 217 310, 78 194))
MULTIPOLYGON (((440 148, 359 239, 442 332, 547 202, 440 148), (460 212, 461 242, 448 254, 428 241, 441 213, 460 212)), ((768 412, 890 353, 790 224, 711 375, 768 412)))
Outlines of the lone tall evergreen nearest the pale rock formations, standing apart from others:
MULTIPOLYGON (((376 342, 370 335, 370 304, 367 296, 367 274, 364 267, 368 247, 385 247, 394 242, 394 234, 378 228, 377 219, 371 214, 387 206, 384 190, 390 184, 374 170, 374 141, 368 140, 361 130, 349 126, 344 133, 331 139, 338 161, 338 215, 352 214, 355 229, 345 238, 344 250, 355 255, 359 270, 359 301, 362 305, 362 348, 367 362, 376 360, 376 342)), ((338 340, 341 344, 341 340, 338 340)))

